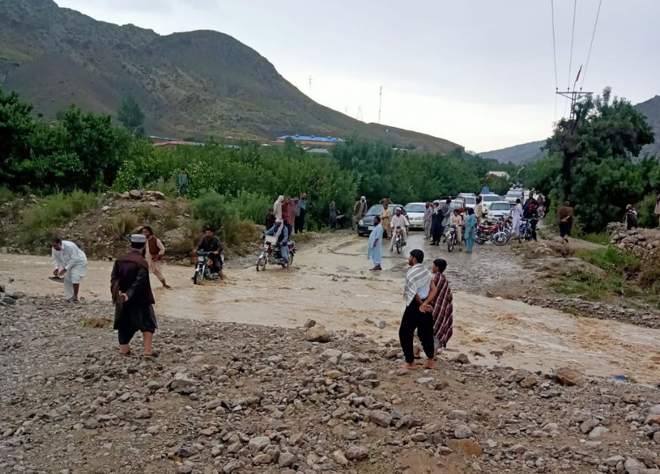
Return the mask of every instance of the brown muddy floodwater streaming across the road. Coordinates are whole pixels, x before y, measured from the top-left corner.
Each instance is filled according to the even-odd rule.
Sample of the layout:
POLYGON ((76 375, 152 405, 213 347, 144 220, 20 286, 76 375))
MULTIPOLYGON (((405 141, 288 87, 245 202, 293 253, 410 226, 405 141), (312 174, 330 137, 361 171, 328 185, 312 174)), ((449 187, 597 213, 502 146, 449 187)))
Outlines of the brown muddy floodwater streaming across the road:
MULTIPOLYGON (((290 271, 268 267, 256 272, 250 260, 228 268, 228 283, 193 286, 191 267, 168 265, 165 274, 173 290, 152 286, 161 325, 167 316, 200 320, 297 327, 315 319, 330 329, 359 331, 376 340, 397 338, 404 305, 402 279, 405 254, 385 248, 384 272, 373 274, 365 258, 367 239, 345 233, 304 244, 290 271), (248 264, 250 266, 248 267, 248 264), (367 316, 387 321, 385 329, 367 324, 367 316)), ((521 302, 489 299, 487 287, 514 285, 524 267, 510 249, 490 244, 472 255, 446 247, 429 247, 417 233, 406 249, 420 247, 427 259, 445 258, 447 277, 455 289, 455 335, 450 349, 469 354, 479 364, 499 364, 549 371, 570 365, 599 376, 634 376, 639 381, 660 378, 660 330, 616 321, 578 318, 521 302), (490 351, 504 351, 496 359, 490 351)), ((111 262, 93 261, 81 285, 81 296, 108 299, 111 262)), ((0 255, 0 282, 9 277, 9 291, 62 294, 47 257, 0 255)), ((445 357, 454 356, 447 351, 445 357)))

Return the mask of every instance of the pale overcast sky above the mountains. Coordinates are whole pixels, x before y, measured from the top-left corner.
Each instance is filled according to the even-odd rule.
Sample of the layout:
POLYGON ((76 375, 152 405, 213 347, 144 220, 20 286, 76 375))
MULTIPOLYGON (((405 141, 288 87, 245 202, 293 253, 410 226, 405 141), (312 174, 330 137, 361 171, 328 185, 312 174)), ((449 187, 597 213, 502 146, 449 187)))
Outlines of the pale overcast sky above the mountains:
POLYGON ((572 87, 581 65, 578 89, 611 86, 632 103, 660 94, 658 0, 56 3, 158 34, 229 34, 313 100, 365 122, 378 121, 382 87, 380 123, 477 152, 547 138, 567 110, 555 90, 572 87))

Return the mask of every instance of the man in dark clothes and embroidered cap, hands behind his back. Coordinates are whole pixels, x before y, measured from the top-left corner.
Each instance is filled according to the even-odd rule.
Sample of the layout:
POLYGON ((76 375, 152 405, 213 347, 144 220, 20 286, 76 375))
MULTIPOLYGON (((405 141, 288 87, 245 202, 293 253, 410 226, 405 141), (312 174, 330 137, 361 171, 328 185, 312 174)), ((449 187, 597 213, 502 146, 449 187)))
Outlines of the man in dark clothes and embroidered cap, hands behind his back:
POLYGON ((143 234, 131 235, 131 251, 116 259, 110 277, 112 301, 115 304, 115 322, 119 339, 119 354, 131 355, 131 339, 141 331, 144 341, 143 356, 151 359, 153 333, 156 332, 156 314, 153 313, 153 293, 149 282, 149 269, 142 251, 146 244, 143 234))

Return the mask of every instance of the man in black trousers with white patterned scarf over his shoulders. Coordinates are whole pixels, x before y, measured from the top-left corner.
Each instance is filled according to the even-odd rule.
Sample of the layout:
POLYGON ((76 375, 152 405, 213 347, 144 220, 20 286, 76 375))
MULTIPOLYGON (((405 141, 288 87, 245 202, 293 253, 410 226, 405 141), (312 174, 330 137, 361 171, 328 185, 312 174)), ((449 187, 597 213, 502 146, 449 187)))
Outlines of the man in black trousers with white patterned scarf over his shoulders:
POLYGON ((402 369, 417 369, 415 366, 415 354, 413 349, 413 338, 415 330, 417 336, 422 341, 422 347, 428 361, 424 364, 425 369, 435 369, 435 346, 433 342, 433 316, 430 312, 420 310, 424 300, 431 292, 431 274, 422 265, 424 262, 424 252, 415 249, 410 252, 408 264, 410 269, 405 276, 405 287, 403 290, 403 299, 406 302, 406 309, 399 326, 399 342, 405 364, 402 369))

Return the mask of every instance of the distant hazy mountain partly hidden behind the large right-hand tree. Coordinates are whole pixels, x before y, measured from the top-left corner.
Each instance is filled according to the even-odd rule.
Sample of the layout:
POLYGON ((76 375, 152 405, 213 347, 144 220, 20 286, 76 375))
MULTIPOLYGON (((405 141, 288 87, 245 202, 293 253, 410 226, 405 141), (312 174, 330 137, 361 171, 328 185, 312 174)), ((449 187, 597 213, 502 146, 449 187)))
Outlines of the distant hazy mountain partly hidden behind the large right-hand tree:
MULTIPOLYGON (((660 156, 660 96, 655 96, 635 105, 638 112, 646 116, 646 120, 651 125, 655 135, 656 141, 650 145, 646 145, 641 150, 640 156, 645 154, 660 156)), ((532 163, 547 155, 547 150, 540 150, 545 145, 545 140, 537 142, 522 143, 522 145, 514 145, 501 150, 492 150, 479 153, 482 158, 492 158, 499 161, 499 163, 532 163)))

